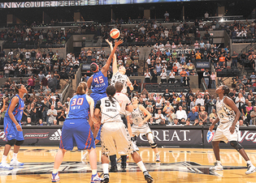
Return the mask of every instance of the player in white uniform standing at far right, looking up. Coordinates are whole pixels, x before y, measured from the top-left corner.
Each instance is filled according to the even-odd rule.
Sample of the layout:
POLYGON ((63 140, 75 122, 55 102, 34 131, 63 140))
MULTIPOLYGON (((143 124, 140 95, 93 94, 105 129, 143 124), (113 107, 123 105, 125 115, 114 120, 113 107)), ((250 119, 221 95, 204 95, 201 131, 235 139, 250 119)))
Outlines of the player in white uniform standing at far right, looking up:
POLYGON ((210 170, 223 170, 223 166, 220 163, 219 156, 219 142, 230 143, 232 147, 238 151, 247 163, 247 171, 245 174, 256 172, 256 168, 250 162, 248 155, 245 153, 244 147, 241 146, 238 140, 238 120, 240 117, 240 111, 236 107, 236 104, 232 99, 228 97, 229 88, 227 86, 220 86, 216 89, 216 93, 219 94, 219 98, 216 103, 218 117, 210 126, 209 130, 212 131, 215 124, 219 122, 219 126, 215 132, 215 136, 212 140, 212 147, 215 152, 215 166, 211 167, 210 170))

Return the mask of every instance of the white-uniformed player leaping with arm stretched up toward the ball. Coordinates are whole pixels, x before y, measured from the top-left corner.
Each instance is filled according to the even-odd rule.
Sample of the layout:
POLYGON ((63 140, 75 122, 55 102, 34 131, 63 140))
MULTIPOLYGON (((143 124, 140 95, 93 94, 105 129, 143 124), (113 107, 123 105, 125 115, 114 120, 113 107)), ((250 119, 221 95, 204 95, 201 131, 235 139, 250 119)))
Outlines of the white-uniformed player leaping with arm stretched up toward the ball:
MULTIPOLYGON (((111 46, 111 52, 112 52, 113 46, 111 44, 110 44, 110 46, 111 46)), ((124 66, 119 66, 119 69, 117 68, 117 62, 116 62, 115 55, 113 57, 112 70, 113 70, 113 76, 111 79, 111 85, 115 86, 115 83, 117 81, 119 81, 124 84, 123 90, 121 91, 122 93, 124 93, 124 94, 127 93, 127 87, 129 87, 130 90, 132 91, 133 90, 132 83, 131 83, 130 79, 128 78, 128 76, 125 74, 126 69, 124 66)))

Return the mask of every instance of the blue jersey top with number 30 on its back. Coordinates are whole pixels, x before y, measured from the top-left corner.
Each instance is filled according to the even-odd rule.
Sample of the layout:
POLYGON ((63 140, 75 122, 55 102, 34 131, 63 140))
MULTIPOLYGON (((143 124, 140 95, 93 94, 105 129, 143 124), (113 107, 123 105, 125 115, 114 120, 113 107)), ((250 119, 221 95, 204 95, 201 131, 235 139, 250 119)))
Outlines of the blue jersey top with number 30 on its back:
POLYGON ((87 119, 89 116, 89 103, 85 95, 76 95, 70 100, 69 113, 66 119, 87 119))

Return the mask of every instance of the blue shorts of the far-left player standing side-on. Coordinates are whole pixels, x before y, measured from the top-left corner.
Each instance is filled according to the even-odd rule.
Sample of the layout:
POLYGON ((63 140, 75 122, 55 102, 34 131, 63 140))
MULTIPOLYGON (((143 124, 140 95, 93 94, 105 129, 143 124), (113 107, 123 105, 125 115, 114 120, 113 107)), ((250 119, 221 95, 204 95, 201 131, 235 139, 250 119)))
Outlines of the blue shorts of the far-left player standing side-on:
MULTIPOLYGON (((18 121, 20 124, 20 121, 18 121)), ((21 126, 21 124, 20 124, 21 126)), ((4 127, 4 133, 6 136, 7 141, 16 139, 16 140, 24 140, 23 131, 18 131, 15 123, 11 121, 10 117, 4 117, 3 119, 3 127, 4 127)), ((22 128, 22 126, 21 126, 22 128)))

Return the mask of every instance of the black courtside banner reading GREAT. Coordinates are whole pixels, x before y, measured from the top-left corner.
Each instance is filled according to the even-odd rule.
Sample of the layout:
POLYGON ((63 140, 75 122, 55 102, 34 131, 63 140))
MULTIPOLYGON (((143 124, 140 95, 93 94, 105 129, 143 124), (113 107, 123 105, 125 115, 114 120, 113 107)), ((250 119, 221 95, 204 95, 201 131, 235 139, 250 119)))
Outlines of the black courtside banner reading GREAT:
MULTIPOLYGON (((154 129, 152 130, 155 143, 159 146, 202 146, 202 130, 173 130, 154 129)), ((138 146, 149 146, 148 139, 140 135, 137 137, 138 146)))

